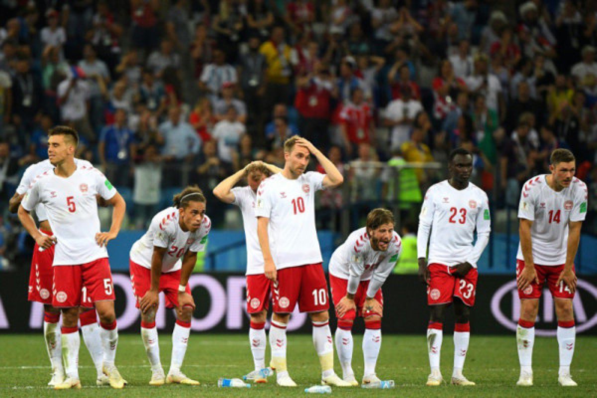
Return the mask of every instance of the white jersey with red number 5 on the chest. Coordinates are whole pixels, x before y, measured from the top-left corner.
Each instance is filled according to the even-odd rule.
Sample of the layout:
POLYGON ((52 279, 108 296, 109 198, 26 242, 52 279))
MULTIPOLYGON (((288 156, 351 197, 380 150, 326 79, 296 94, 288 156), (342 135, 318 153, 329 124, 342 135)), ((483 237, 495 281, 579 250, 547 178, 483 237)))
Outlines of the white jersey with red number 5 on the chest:
POLYGON ((97 216, 96 195, 110 200, 116 189, 96 168, 77 165, 68 178, 59 177, 53 170, 33 178, 21 205, 31 211, 42 203, 56 236, 54 266, 90 263, 108 257, 105 246, 96 242, 101 232, 97 216))

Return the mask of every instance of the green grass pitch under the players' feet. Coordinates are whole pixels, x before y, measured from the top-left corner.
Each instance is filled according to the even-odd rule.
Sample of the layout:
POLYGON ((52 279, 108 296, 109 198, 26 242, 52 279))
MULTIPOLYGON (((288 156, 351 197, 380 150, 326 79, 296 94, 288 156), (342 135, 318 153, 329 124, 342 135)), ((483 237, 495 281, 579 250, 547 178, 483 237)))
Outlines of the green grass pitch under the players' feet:
MULTIPOLYGON (((165 371, 170 364, 171 336, 160 335, 165 371)), ((81 339, 82 340, 82 339, 81 339)), ((81 341, 82 343, 82 341, 81 341)), ((82 344, 83 345, 83 344, 82 344)), ((218 388, 219 377, 241 377, 251 370, 253 361, 245 335, 193 334, 189 339, 183 371, 201 381, 201 386, 147 385, 151 376, 140 335, 122 334, 116 364, 130 385, 122 391, 95 387, 96 371, 87 350, 81 348, 79 372, 81 390, 54 391, 46 386, 50 368, 41 334, 0 335, 0 397, 298 397, 305 387, 319 382, 319 362, 310 335, 288 334, 288 369, 298 388, 281 388, 275 377, 267 384, 251 388, 218 388)), ((336 388, 343 397, 596 397, 597 337, 578 337, 572 375, 578 387, 560 387, 558 348, 555 338, 537 338, 534 349, 534 387, 516 387, 518 356, 514 336, 471 338, 464 374, 477 385, 426 387, 429 373, 426 343, 421 336, 384 335, 377 374, 393 379, 393 390, 365 390, 361 387, 336 388)), ((269 349, 268 349, 269 357, 269 349)), ((453 343, 444 336, 442 374, 450 380, 453 343)), ((353 368, 360 380, 363 371, 361 336, 355 334, 353 368)), ((341 375, 336 359, 336 372, 341 375)))

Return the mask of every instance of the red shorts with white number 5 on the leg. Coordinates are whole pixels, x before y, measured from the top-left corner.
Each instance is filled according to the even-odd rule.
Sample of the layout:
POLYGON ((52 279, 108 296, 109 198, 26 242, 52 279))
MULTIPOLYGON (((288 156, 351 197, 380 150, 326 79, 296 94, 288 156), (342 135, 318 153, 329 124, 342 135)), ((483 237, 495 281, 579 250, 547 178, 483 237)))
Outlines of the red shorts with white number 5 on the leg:
POLYGON ((110 263, 106 257, 76 266, 54 266, 54 307, 92 307, 114 301, 110 263))

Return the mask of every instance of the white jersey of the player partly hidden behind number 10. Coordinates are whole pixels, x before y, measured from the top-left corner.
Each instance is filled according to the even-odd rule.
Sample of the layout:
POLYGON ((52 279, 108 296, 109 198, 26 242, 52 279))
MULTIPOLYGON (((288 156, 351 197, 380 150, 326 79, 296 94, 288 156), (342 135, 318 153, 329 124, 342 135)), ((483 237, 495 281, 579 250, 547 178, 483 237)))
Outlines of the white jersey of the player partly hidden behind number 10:
POLYGON ((232 204, 238 206, 242 213, 242 226, 247 241, 247 272, 245 275, 262 274, 264 261, 257 236, 257 218, 255 217, 257 193, 253 192, 250 186, 234 187, 230 192, 234 195, 232 204))

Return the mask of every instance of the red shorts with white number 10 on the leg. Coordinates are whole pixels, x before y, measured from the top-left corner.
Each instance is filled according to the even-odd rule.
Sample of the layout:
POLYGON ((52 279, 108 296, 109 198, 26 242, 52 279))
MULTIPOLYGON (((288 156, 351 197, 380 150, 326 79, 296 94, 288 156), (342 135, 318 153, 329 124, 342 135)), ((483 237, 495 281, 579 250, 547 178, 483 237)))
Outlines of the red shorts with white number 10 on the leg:
POLYGON ((290 314, 297 303, 301 312, 327 311, 328 284, 321 263, 278 270, 278 283, 272 283, 272 303, 279 314, 290 314))

